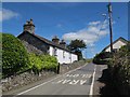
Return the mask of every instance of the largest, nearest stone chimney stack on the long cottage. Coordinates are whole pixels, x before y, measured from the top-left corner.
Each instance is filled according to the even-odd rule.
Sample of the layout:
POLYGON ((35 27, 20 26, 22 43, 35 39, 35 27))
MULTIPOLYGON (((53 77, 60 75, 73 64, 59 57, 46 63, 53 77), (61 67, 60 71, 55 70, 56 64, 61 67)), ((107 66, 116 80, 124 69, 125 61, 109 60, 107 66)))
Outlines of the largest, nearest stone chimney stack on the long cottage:
POLYGON ((31 18, 30 18, 30 20, 27 20, 26 24, 24 24, 24 31, 35 33, 35 25, 34 25, 31 18))

